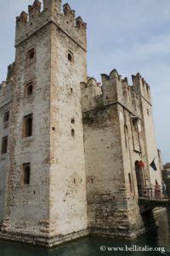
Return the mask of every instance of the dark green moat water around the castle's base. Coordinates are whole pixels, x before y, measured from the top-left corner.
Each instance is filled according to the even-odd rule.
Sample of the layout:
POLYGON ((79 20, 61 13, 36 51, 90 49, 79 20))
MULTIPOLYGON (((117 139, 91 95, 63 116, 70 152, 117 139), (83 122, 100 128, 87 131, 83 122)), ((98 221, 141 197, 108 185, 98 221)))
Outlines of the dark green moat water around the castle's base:
POLYGON ((158 229, 152 230, 150 233, 139 237, 139 239, 133 242, 108 238, 84 237, 77 241, 71 241, 59 247, 54 247, 53 249, 46 249, 18 242, 0 241, 0 256, 170 255, 170 210, 156 212, 156 220, 159 224, 158 229), (111 247, 114 247, 114 250, 119 250, 120 247, 127 251, 116 252, 113 249, 111 251, 111 247), (150 248, 156 251, 150 252, 150 248))

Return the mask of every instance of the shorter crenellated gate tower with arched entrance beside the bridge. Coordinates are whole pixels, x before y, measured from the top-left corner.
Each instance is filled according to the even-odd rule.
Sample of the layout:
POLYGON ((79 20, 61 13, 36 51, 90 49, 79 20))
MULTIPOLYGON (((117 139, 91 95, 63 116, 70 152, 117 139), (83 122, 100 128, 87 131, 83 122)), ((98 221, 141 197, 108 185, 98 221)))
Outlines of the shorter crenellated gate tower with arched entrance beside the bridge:
MULTIPOLYGON (((150 102, 139 84, 129 85, 116 69, 101 79, 102 86, 93 78, 82 83, 88 229, 95 236, 133 238, 156 227, 151 209, 139 207, 155 172, 148 158, 157 151, 156 139, 151 135, 150 141, 145 133, 154 133, 154 127, 142 105, 150 102)), ((160 175, 158 169, 159 183, 160 175)))

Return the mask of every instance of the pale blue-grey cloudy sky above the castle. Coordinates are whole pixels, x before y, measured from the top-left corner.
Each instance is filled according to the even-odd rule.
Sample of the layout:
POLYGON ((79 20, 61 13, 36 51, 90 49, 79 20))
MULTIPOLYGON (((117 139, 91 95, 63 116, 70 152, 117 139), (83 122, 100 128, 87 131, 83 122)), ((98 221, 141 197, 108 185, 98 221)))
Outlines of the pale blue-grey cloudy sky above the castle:
MULTIPOLYGON (((68 0, 88 23, 88 76, 116 68, 141 73, 150 84, 157 146, 170 161, 170 0, 68 0)), ((0 1, 0 81, 14 61, 15 16, 31 0, 0 1)))

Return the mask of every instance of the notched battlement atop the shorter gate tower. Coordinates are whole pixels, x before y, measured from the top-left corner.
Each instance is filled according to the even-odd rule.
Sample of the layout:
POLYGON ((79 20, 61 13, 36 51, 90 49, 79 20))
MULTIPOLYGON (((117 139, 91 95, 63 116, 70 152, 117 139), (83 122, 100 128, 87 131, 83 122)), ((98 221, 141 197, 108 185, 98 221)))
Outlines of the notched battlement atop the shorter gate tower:
POLYGON ((129 85, 128 79, 113 69, 109 75, 101 74, 102 86, 94 78, 88 79, 88 83, 81 83, 82 111, 104 107, 119 102, 130 112, 140 116, 139 110, 139 86, 129 85))

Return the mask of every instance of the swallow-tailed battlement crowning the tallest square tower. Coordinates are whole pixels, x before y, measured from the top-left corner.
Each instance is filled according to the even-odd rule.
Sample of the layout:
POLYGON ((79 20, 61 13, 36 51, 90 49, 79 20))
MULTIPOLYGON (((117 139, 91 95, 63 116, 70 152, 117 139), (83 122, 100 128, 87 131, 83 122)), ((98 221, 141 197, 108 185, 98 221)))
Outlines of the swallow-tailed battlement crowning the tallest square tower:
POLYGON ((87 24, 78 16, 75 18, 75 10, 68 3, 63 6, 61 12, 61 0, 35 0, 28 6, 28 14, 22 11, 16 17, 15 46, 22 43, 26 38, 42 29, 43 26, 53 22, 61 31, 72 38, 82 49, 87 49, 86 28, 87 24))

